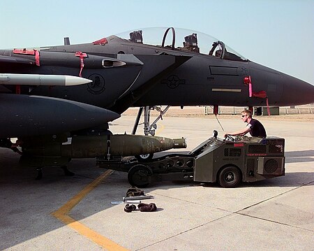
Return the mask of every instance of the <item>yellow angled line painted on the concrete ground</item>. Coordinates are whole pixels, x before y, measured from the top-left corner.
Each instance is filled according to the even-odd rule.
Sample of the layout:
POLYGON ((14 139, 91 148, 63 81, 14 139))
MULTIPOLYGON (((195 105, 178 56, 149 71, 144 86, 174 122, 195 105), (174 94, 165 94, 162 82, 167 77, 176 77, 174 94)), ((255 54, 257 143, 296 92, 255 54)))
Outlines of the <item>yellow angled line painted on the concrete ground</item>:
POLYGON ((82 199, 84 199, 89 192, 91 192, 95 187, 99 185, 100 182, 102 182, 105 178, 107 178, 111 173, 113 173, 112 170, 107 170, 105 173, 100 175, 96 180, 91 182, 87 187, 82 189, 81 192, 73 196, 70 201, 65 203, 61 208, 59 208, 57 211, 52 212, 51 214, 56 217, 58 220, 66 224, 71 229, 74 229, 79 234, 82 234, 82 236, 85 236, 89 238, 91 241, 94 241, 94 243, 97 243, 101 247, 103 247, 105 250, 108 251, 125 251, 127 250, 124 247, 121 247, 117 243, 114 243, 114 241, 111 241, 110 239, 106 238, 105 236, 102 236, 98 234, 96 231, 89 229, 89 227, 86 227, 84 224, 77 222, 72 217, 68 216, 68 213, 70 210, 72 210, 82 199))

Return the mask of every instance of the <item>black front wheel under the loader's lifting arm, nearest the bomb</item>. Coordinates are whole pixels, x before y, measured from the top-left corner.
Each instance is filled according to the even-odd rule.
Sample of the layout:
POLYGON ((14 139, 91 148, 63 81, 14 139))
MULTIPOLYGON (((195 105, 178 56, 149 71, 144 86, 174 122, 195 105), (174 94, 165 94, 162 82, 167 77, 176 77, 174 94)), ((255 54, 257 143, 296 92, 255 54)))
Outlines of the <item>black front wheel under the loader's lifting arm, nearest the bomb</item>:
POLYGON ((128 182, 133 187, 147 187, 151 183, 152 174, 151 168, 137 164, 128 171, 128 182))

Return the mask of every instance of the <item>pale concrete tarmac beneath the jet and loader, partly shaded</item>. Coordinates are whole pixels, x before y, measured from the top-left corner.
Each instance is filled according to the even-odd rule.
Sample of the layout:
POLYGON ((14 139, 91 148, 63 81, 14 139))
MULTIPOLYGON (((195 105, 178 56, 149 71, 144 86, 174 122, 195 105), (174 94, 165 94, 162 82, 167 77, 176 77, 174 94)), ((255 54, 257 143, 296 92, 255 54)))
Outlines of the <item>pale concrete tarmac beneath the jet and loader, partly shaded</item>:
MULTIPOLYGON (((269 136, 285 138, 283 177, 225 189, 216 184, 159 182, 144 189, 156 212, 125 213, 127 174, 73 159, 61 168, 19 166, 0 149, 0 250, 314 250, 314 123, 257 117, 269 136)), ((218 116, 219 117, 219 116, 218 116)), ((135 117, 112 122, 130 133, 135 117)), ((220 117, 225 131, 245 126, 240 115, 220 117)), ((213 116, 165 117, 157 135, 188 140, 188 150, 223 130, 213 116)), ((142 128, 138 131, 142 134, 142 128)))

